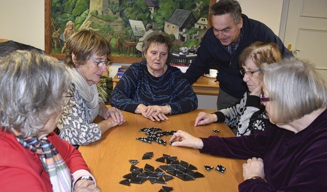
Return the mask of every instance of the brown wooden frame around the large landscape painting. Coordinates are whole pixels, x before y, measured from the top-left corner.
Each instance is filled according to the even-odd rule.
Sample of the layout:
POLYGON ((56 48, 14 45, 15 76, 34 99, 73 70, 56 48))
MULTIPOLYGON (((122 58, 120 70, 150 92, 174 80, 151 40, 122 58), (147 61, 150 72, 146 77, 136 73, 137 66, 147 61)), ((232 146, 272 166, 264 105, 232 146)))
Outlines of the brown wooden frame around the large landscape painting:
MULTIPOLYGON (((216 3, 216 0, 209 0, 209 5, 216 3)), ((52 53, 52 0, 44 0, 44 42, 45 42, 45 54, 51 55, 58 60, 64 60, 65 54, 52 53)), ((208 28, 211 27, 211 18, 208 17, 208 28)), ((208 29, 207 28, 207 29, 208 29)), ((135 47, 134 47, 135 49, 135 47)), ((112 63, 134 63, 142 61, 142 57, 120 57, 120 56, 110 56, 109 59, 112 63)))

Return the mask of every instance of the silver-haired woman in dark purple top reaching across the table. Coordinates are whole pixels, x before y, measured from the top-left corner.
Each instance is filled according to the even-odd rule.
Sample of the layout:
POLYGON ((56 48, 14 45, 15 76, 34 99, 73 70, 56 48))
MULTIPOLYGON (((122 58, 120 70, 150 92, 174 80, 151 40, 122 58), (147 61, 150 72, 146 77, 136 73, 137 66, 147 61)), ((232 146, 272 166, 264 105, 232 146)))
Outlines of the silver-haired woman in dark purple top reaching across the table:
POLYGON ((201 153, 247 159, 240 191, 326 191, 326 82, 314 65, 296 58, 263 64, 263 70, 260 99, 275 125, 229 138, 178 131, 170 141, 201 153))

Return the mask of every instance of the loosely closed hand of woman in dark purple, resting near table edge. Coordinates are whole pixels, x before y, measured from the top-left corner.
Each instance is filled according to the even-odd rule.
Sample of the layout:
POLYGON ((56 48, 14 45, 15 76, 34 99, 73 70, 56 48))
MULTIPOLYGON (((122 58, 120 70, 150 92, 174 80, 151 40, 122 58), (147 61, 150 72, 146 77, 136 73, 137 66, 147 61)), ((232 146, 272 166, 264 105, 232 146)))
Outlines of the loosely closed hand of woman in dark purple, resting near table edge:
POLYGON ((262 158, 252 157, 243 164, 243 177, 244 180, 251 179, 252 177, 265 178, 264 161, 262 158))

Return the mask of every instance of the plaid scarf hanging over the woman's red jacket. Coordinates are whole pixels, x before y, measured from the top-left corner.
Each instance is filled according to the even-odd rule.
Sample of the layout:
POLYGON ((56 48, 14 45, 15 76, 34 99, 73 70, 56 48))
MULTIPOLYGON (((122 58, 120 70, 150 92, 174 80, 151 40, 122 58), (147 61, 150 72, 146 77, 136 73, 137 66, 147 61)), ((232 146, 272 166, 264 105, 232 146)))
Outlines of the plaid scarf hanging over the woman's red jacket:
POLYGON ((72 172, 52 143, 46 137, 41 140, 37 137, 21 138, 16 130, 12 131, 23 147, 39 155, 44 170, 49 174, 53 191, 72 191, 72 172))

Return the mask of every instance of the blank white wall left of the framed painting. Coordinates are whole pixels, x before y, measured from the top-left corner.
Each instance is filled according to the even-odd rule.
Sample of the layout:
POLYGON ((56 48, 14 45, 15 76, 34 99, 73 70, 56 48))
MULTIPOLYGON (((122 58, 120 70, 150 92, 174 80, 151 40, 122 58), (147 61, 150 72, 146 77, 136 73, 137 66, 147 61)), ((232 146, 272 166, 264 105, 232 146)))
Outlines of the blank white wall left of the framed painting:
POLYGON ((0 0, 0 38, 44 50, 44 1, 0 0))

